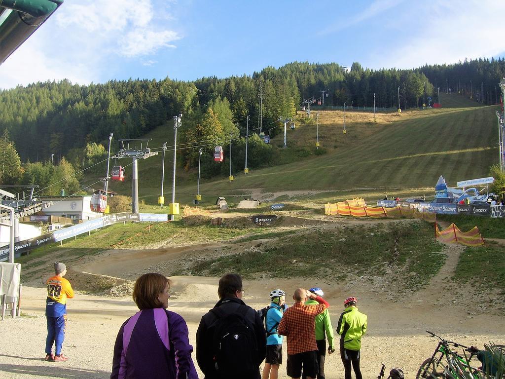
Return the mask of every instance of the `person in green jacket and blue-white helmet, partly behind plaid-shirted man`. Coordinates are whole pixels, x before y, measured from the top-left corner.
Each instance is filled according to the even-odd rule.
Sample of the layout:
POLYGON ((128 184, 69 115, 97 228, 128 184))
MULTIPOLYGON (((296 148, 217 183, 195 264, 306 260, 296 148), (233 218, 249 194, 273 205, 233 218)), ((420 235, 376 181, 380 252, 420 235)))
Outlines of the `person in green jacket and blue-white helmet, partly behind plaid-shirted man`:
MULTIPOLYGON (((323 297, 324 292, 319 287, 311 288, 309 290, 313 294, 323 297)), ((309 299, 305 305, 318 304, 317 301, 309 299)), ((328 314, 328 309, 325 309, 323 313, 316 316, 314 321, 314 326, 316 330, 316 344, 317 344, 317 362, 319 365, 319 372, 317 374, 317 379, 324 379, 324 360, 326 358, 326 338, 328 339, 328 354, 335 352, 335 345, 333 344, 333 327, 331 326, 330 315, 328 314)), ((302 375, 305 379, 305 375, 302 375)))

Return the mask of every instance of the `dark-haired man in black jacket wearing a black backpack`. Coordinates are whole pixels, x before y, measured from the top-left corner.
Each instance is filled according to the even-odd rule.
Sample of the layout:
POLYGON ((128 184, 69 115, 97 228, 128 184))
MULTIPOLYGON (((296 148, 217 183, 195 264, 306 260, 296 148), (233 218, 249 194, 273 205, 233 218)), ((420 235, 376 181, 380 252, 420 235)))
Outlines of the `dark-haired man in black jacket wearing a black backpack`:
POLYGON ((196 361, 205 379, 260 379, 266 355, 265 327, 258 312, 245 305, 242 277, 219 279, 219 301, 196 331, 196 361))

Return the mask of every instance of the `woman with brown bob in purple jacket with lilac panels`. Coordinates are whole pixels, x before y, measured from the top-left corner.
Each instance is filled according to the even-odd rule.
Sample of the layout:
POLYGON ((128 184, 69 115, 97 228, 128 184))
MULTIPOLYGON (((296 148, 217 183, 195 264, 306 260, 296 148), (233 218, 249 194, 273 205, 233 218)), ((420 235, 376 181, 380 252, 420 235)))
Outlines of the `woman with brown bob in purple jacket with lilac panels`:
POLYGON ((119 329, 111 379, 198 379, 186 321, 166 310, 170 280, 157 273, 140 276, 133 301, 140 309, 119 329))

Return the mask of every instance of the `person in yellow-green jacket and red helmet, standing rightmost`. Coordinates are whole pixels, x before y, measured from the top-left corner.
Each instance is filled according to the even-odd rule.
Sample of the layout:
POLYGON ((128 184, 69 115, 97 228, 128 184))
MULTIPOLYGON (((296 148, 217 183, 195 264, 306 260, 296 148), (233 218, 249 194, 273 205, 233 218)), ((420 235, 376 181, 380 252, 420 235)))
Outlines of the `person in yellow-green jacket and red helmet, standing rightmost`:
POLYGON ((351 363, 356 379, 362 379, 360 370, 361 336, 367 331, 367 315, 358 310, 357 303, 358 300, 354 296, 345 299, 345 310, 340 315, 337 325, 345 379, 351 378, 351 363))

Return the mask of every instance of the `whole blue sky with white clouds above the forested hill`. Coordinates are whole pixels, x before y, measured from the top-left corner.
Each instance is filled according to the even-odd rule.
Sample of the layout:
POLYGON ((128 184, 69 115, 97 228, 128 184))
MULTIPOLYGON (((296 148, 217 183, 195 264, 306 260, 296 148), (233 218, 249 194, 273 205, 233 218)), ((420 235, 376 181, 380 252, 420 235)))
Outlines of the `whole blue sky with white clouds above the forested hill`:
POLYGON ((0 88, 252 75, 293 61, 378 69, 502 57, 503 15, 499 0, 65 0, 0 66, 0 88))

